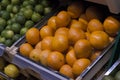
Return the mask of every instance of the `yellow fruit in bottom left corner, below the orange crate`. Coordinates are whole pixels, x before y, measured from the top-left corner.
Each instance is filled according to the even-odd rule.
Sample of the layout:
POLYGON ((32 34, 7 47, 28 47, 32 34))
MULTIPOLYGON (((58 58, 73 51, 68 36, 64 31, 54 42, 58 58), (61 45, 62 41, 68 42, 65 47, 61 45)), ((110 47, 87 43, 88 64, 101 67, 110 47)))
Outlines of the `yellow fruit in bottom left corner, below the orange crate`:
POLYGON ((19 69, 13 65, 9 64, 4 68, 4 73, 7 74, 11 78, 16 78, 19 76, 19 69))

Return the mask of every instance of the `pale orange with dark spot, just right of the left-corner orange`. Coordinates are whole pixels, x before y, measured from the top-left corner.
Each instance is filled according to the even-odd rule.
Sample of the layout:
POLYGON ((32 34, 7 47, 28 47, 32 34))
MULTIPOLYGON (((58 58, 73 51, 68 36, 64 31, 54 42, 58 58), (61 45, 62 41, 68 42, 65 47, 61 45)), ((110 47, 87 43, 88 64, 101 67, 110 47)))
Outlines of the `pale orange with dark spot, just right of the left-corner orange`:
POLYGON ((29 58, 32 59, 33 61, 38 62, 40 60, 39 56, 41 53, 41 49, 33 49, 30 52, 29 58))

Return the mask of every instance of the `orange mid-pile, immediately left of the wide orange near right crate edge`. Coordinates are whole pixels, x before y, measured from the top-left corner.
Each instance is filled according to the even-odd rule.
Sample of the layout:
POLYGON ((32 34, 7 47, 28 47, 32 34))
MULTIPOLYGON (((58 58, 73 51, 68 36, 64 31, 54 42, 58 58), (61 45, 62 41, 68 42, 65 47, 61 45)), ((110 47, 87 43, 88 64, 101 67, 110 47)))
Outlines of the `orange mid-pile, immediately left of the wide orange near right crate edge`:
POLYGON ((68 39, 70 44, 75 44, 79 39, 85 39, 85 32, 81 29, 70 28, 68 33, 68 39))

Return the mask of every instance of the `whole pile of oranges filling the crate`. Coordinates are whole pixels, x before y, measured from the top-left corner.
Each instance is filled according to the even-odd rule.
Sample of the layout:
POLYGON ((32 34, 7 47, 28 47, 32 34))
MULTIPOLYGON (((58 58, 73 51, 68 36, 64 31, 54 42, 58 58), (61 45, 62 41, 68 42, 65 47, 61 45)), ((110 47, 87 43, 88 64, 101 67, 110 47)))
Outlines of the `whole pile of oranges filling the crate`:
POLYGON ((30 28, 20 53, 76 78, 114 40, 120 29, 120 22, 112 16, 102 23, 96 10, 95 7, 85 10, 81 2, 73 2, 66 11, 52 16, 40 30, 30 28))

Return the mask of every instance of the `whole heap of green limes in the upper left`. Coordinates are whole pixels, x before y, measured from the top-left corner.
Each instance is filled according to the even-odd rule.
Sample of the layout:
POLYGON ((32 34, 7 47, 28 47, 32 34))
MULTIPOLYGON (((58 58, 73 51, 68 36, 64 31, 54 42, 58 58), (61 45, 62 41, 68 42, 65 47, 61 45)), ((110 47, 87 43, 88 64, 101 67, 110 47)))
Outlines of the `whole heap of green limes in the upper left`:
POLYGON ((1 0, 0 43, 11 46, 51 9, 49 0, 1 0))

